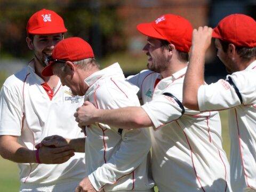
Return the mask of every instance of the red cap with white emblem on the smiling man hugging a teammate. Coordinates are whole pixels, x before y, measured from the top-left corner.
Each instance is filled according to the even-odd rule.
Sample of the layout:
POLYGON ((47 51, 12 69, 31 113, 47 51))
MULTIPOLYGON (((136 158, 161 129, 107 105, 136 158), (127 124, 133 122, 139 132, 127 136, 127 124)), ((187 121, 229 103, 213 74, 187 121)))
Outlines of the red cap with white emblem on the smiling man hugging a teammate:
POLYGON ((179 15, 165 14, 150 23, 140 23, 137 29, 144 35, 174 44, 179 51, 189 52, 193 27, 179 15))

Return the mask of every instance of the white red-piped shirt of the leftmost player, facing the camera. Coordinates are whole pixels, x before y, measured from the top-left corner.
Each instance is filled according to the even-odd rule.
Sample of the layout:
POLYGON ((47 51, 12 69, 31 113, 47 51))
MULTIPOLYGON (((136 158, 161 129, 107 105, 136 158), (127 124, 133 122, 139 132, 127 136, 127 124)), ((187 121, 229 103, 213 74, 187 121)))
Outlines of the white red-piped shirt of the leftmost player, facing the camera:
MULTIPOLYGON (((73 139, 84 135, 75 122, 76 108, 83 105, 83 97, 70 93, 59 82, 52 100, 46 93, 33 66, 23 68, 6 79, 0 93, 0 135, 14 135, 18 142, 35 150, 35 145, 50 135, 73 139)), ((75 153, 69 161, 59 165, 19 163, 21 188, 53 186, 79 182, 85 177, 84 154, 75 153)), ((67 190, 71 190, 68 189, 67 190)))

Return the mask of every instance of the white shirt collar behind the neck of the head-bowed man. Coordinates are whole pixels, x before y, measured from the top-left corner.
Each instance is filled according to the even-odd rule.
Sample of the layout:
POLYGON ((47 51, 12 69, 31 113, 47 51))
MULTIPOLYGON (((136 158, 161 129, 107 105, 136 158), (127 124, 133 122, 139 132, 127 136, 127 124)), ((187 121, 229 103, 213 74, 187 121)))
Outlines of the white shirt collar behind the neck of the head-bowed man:
POLYGON ((101 69, 89 77, 86 77, 84 79, 84 82, 90 87, 95 82, 97 82, 102 77, 113 77, 113 76, 119 76, 121 78, 124 78, 123 70, 119 66, 119 64, 116 62, 113 65, 106 67, 104 69, 101 69))

